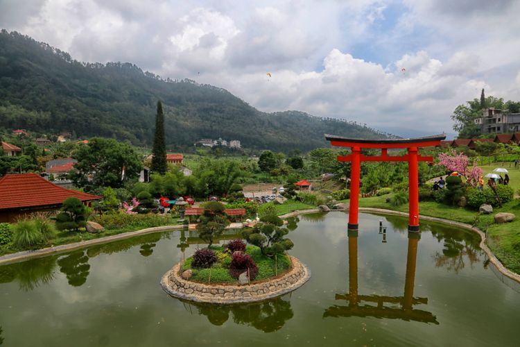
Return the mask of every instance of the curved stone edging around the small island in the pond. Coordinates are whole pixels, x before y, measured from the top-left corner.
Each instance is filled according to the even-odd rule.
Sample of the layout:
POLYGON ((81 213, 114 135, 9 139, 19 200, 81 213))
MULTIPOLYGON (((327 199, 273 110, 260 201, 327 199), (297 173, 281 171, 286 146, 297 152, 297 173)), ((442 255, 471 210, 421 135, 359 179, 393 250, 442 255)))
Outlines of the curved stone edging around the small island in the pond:
POLYGON ((205 285, 184 280, 180 274, 180 263, 166 272, 161 286, 166 293, 198 303, 252 303, 281 296, 293 291, 311 278, 311 271, 300 260, 292 257, 293 269, 283 276, 251 285, 205 285))

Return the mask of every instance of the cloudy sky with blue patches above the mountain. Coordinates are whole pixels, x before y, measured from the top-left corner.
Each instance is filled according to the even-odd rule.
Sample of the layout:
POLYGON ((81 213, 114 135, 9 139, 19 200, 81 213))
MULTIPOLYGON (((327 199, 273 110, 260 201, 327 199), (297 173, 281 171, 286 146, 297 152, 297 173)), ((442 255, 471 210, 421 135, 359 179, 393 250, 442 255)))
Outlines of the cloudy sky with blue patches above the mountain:
POLYGON ((76 60, 399 135, 451 133, 482 88, 520 100, 519 13, 519 0, 0 0, 0 26, 76 60))

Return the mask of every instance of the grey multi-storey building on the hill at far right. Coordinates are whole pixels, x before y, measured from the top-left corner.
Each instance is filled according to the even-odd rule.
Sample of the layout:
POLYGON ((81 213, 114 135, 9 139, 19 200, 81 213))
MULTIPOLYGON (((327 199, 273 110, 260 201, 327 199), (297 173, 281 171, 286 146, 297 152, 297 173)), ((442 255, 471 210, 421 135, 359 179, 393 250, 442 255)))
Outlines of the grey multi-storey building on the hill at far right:
POLYGON ((503 134, 520 130, 520 113, 508 112, 499 108, 485 108, 482 117, 474 120, 481 134, 503 134))

